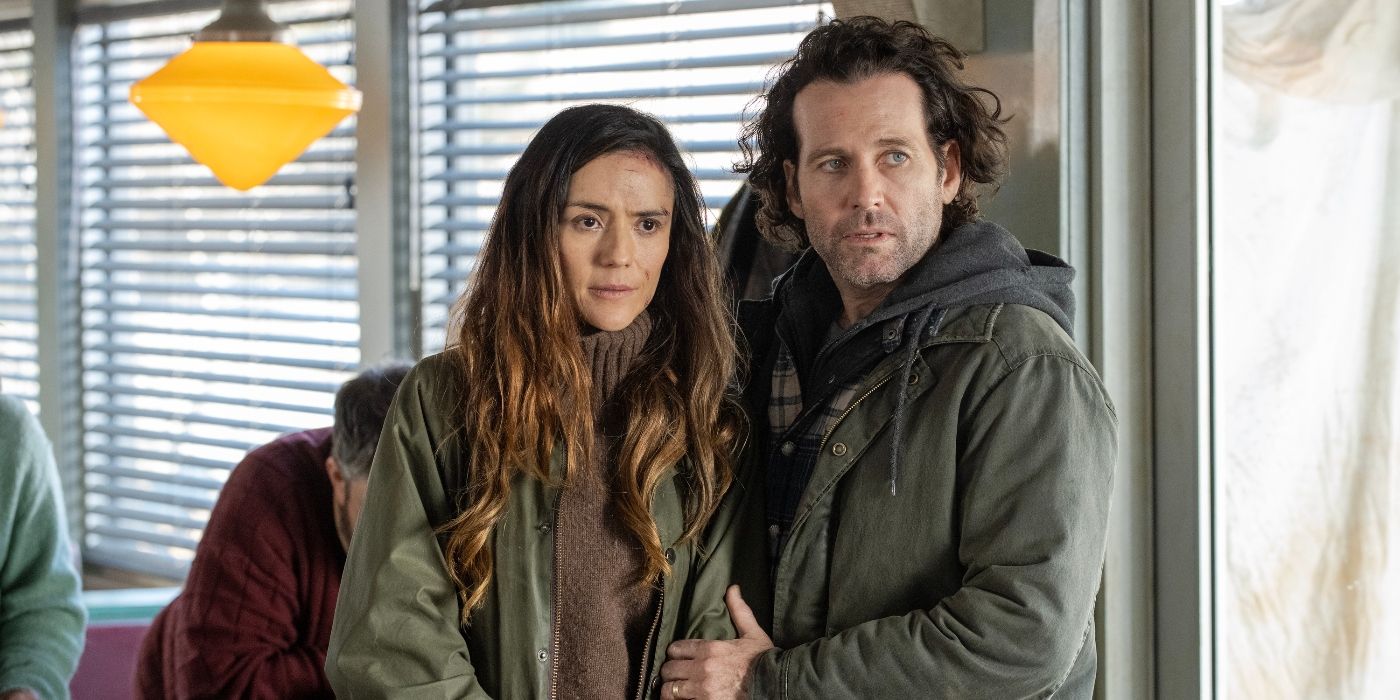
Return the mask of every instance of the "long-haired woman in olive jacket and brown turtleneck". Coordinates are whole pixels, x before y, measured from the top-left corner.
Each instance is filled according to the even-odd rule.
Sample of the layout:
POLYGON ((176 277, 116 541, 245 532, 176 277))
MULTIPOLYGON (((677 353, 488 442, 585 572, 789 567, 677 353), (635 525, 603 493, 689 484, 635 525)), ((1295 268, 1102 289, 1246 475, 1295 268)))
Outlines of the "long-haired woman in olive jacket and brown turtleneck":
POLYGON ((735 536, 753 508, 700 206, 671 134, 627 108, 566 109, 525 148, 452 343, 381 437, 337 694, 640 697, 672 638, 734 636, 734 547, 762 536, 735 536))

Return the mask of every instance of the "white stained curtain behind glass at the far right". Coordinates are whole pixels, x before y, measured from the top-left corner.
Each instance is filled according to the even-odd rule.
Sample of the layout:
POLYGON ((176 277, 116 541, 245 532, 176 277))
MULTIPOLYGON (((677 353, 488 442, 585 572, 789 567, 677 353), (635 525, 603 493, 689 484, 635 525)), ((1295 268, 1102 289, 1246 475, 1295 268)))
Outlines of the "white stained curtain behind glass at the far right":
POLYGON ((1224 687, 1400 699, 1400 0, 1246 0, 1222 18, 1224 687))

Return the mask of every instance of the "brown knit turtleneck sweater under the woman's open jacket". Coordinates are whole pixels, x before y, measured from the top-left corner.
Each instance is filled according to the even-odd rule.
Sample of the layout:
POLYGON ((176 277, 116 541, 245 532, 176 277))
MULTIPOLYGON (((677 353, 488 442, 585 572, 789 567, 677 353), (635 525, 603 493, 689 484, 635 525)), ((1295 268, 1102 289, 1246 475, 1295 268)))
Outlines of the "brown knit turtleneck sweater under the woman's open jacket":
POLYGON ((644 311, 622 330, 582 340, 594 381, 594 445, 589 463, 560 496, 554 529, 557 697, 566 700, 634 696, 641 673, 657 592, 637 587, 644 554, 613 498, 622 416, 612 398, 650 335, 644 311))

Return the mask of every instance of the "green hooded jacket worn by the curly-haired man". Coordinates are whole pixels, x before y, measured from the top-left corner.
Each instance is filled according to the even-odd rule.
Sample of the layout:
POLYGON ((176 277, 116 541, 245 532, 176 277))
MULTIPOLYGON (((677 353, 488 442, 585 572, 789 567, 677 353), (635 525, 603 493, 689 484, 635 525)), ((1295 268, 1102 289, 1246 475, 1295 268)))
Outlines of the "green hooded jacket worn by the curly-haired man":
POLYGON ((798 346, 804 398, 857 384, 777 553, 777 650, 756 661, 752 697, 1092 696, 1116 416, 1067 335, 1072 301, 1054 301, 1072 272, 1032 255, 998 227, 959 228, 825 357, 801 347, 823 346, 839 304, 813 255, 776 300, 741 308, 760 448, 778 337, 798 346), (906 328, 924 308, 937 329, 906 328), (840 367, 857 356, 874 357, 840 367))

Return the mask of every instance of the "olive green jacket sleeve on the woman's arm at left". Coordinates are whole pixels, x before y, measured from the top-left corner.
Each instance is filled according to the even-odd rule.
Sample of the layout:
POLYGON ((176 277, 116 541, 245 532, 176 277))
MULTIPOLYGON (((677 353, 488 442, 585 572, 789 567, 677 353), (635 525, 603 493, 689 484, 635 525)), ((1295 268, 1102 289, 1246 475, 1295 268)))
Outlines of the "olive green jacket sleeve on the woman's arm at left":
POLYGON ((433 535, 431 517, 441 517, 448 500, 426 424, 431 386, 423 375, 420 364, 399 385, 346 559, 326 652, 337 697, 489 697, 433 535))

